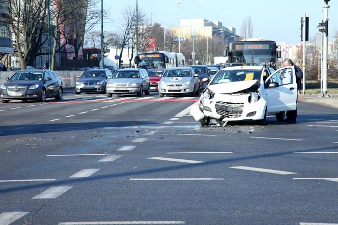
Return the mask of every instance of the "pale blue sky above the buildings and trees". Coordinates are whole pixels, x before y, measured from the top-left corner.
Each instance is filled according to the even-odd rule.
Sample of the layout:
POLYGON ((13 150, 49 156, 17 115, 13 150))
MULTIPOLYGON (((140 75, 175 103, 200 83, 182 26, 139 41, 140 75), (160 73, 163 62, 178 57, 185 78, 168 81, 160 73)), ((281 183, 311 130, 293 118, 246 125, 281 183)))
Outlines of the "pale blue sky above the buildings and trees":
MULTIPOLYGON (((123 9, 136 6, 136 0, 103 0, 103 5, 109 9, 109 20, 112 20, 105 20, 104 30, 117 31, 123 9)), ((218 20, 226 27, 235 27, 236 35, 240 35, 243 19, 250 16, 253 37, 287 44, 301 42, 300 19, 304 13, 309 17, 309 38, 319 33, 317 26, 324 18, 323 5, 323 0, 138 0, 138 9, 162 25, 165 9, 166 27, 178 26, 180 18, 204 18, 218 20), (180 1, 181 4, 175 5, 180 1)), ((331 0, 329 6, 331 40, 338 32, 338 0, 331 0)))

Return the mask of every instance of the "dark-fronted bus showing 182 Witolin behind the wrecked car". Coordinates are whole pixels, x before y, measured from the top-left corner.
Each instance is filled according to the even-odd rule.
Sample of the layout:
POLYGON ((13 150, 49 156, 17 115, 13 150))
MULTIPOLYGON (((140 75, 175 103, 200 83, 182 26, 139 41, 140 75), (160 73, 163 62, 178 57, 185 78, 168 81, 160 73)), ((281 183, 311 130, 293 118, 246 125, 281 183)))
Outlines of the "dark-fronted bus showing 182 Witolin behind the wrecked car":
POLYGON ((230 42, 224 56, 228 57, 228 66, 255 65, 268 66, 274 69, 278 67, 278 58, 281 51, 280 46, 274 41, 259 39, 244 39, 242 41, 230 42))

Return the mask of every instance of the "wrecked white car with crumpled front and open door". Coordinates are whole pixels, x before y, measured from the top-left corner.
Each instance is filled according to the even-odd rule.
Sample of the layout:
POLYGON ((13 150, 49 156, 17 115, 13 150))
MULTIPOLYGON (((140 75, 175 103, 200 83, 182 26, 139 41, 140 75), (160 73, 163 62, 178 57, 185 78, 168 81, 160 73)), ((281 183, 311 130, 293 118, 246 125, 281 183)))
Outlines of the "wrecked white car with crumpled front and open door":
POLYGON ((285 111, 297 109, 297 83, 293 66, 270 74, 261 66, 227 67, 219 71, 203 91, 199 104, 190 115, 203 126, 211 119, 227 121, 254 120, 265 124, 276 115, 283 121, 285 111))

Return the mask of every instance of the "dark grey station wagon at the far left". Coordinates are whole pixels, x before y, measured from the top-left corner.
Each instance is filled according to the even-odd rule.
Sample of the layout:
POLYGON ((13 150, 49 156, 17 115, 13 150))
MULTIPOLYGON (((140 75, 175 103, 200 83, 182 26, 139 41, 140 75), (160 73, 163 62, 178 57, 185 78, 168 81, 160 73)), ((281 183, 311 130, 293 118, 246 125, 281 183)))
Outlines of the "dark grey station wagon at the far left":
POLYGON ((1 86, 0 98, 3 103, 10 100, 38 100, 46 98, 62 100, 62 80, 51 70, 20 70, 1 86))

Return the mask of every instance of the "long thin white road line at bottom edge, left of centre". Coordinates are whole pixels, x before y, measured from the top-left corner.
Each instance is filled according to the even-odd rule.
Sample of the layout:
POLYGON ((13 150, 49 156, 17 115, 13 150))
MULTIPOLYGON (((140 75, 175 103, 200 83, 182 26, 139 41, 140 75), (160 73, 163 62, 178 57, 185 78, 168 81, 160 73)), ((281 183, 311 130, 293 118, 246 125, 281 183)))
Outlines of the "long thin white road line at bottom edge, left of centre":
POLYGON ((185 224, 185 221, 93 221, 59 222, 59 225, 185 224))

